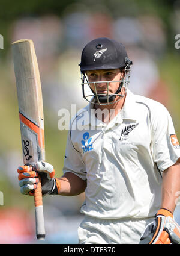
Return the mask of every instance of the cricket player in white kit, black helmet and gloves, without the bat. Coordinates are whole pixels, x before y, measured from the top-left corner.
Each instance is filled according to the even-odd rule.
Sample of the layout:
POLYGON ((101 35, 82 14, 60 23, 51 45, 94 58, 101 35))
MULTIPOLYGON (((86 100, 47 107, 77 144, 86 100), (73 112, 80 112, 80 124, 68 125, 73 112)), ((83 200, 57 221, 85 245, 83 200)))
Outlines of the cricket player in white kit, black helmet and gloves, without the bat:
POLYGON ((33 195, 37 173, 43 195, 85 191, 79 243, 180 243, 173 218, 180 191, 179 142, 167 109, 128 90, 132 64, 121 43, 89 42, 80 61, 83 98, 89 103, 71 120, 64 175, 55 178, 53 166, 43 162, 17 169, 25 195, 33 195))

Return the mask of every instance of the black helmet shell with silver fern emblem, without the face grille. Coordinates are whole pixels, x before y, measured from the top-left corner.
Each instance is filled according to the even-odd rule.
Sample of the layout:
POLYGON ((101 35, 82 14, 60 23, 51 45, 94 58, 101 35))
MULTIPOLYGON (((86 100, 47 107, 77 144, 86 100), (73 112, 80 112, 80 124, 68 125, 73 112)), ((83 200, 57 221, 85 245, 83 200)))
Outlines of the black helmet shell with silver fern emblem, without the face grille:
POLYGON ((124 45, 107 37, 100 37, 89 42, 83 48, 80 71, 96 69, 118 69, 132 64, 128 59, 124 45))

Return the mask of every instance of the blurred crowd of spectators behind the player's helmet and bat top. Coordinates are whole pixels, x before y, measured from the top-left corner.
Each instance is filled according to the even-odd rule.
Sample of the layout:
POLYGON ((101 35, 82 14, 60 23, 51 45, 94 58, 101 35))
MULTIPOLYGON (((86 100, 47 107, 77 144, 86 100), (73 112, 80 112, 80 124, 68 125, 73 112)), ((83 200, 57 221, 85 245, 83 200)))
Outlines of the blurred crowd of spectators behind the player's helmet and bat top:
POLYGON ((61 18, 53 15, 25 17, 17 20, 11 29, 12 42, 27 37, 34 41, 44 103, 55 113, 70 104, 85 106, 78 66, 80 54, 90 40, 111 37, 125 45, 133 61, 130 89, 167 105, 168 86, 161 80, 156 64, 167 47, 166 26, 160 17, 149 14, 113 19, 104 8, 103 13, 80 11, 79 5, 79 10, 74 9, 61 18))

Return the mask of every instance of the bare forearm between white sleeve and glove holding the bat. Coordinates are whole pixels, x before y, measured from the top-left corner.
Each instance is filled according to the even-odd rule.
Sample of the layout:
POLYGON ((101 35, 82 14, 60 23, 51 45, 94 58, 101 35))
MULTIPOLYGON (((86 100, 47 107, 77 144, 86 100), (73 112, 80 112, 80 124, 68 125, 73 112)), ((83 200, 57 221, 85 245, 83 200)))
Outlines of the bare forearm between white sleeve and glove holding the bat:
POLYGON ((78 176, 71 172, 65 173, 61 178, 58 178, 60 183, 60 191, 58 195, 76 196, 81 194, 86 189, 86 181, 83 181, 78 176))

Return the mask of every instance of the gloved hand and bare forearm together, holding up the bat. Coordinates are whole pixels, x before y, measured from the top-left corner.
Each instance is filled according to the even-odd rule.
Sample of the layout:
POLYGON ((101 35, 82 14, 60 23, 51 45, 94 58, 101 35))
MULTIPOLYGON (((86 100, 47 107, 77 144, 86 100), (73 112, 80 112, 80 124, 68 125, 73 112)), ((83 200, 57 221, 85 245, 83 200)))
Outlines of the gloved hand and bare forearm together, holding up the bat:
POLYGON ((86 181, 71 172, 66 172, 61 178, 54 178, 53 166, 46 162, 32 163, 31 166, 20 166, 20 190, 25 195, 33 195, 37 188, 38 173, 41 176, 42 193, 50 195, 76 196, 86 189, 86 181))

